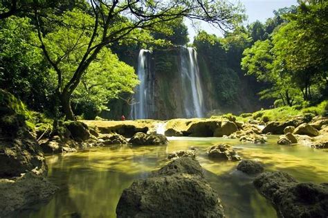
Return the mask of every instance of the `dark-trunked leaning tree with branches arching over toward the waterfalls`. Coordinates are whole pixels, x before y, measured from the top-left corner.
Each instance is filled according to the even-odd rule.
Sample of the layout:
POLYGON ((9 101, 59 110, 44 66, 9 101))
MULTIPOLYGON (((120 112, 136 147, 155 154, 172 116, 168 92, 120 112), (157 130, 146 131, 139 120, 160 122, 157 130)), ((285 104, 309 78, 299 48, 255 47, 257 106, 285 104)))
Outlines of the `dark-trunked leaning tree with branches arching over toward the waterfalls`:
MULTIPOLYGON (((102 48, 118 41, 139 40, 145 36, 143 33, 157 28, 160 24, 181 17, 190 19, 203 19, 221 28, 231 28, 232 24, 241 19, 239 8, 226 2, 217 1, 95 1, 91 0, 93 29, 85 26, 82 30, 91 30, 86 35, 88 43, 80 48, 80 38, 70 44, 65 53, 54 58, 51 47, 46 45, 43 24, 46 22, 40 16, 39 10, 35 11, 37 29, 42 51, 48 62, 57 73, 57 95, 59 96, 66 119, 73 120, 71 109, 71 95, 75 91, 81 78, 89 65, 98 56, 102 48), (63 57, 70 57, 71 53, 79 49, 82 58, 77 60, 70 79, 65 82, 62 78, 64 69, 60 68, 63 57)), ((66 24, 62 24, 65 26, 66 24)), ((148 38, 150 39, 150 37, 148 38)))

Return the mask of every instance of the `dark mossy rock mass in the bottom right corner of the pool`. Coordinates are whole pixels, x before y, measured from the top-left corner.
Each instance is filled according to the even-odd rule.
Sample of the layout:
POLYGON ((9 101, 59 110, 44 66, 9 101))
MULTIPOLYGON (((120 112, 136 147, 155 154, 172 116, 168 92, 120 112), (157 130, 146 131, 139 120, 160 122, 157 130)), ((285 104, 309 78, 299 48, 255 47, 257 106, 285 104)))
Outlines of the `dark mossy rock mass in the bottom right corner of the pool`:
POLYGON ((255 179, 254 185, 273 202, 281 217, 328 216, 327 183, 298 183, 285 172, 265 172, 255 179))

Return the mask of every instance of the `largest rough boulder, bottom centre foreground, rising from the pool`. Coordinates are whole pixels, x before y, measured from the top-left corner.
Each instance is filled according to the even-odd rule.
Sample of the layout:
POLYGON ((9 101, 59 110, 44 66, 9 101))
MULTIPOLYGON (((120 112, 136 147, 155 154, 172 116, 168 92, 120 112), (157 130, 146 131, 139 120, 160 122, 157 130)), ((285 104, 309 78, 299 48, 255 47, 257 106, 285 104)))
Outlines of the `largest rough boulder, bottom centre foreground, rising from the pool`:
POLYGON ((181 157, 122 192, 117 217, 224 217, 198 161, 181 157))

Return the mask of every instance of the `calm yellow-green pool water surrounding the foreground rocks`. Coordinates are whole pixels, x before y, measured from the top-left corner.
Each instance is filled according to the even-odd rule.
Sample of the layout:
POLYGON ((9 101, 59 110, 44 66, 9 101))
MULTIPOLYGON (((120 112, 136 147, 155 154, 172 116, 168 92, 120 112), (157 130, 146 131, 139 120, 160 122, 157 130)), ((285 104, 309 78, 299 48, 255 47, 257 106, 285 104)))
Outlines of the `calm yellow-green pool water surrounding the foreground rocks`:
POLYGON ((106 147, 48 156, 48 177, 61 189, 48 203, 18 217, 116 217, 122 190, 164 165, 170 152, 190 147, 197 147, 197 159, 217 190, 226 217, 277 217, 271 203, 253 187, 253 177, 235 170, 237 163, 210 161, 205 154, 210 145, 229 143, 242 157, 262 161, 266 170, 283 170, 298 181, 328 181, 328 152, 277 145, 276 140, 271 136, 265 145, 254 145, 225 138, 181 137, 170 138, 167 146, 106 147))

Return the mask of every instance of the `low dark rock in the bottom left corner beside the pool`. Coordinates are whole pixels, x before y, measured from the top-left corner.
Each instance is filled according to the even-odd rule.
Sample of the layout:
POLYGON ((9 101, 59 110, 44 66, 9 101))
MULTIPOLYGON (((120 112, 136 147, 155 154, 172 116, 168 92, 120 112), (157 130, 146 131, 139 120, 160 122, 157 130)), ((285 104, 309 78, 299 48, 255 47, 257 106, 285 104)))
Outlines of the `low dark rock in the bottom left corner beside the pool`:
POLYGON ((32 173, 16 180, 0 179, 0 217, 48 201, 57 190, 53 183, 32 173))

